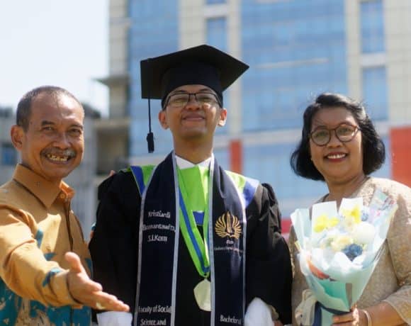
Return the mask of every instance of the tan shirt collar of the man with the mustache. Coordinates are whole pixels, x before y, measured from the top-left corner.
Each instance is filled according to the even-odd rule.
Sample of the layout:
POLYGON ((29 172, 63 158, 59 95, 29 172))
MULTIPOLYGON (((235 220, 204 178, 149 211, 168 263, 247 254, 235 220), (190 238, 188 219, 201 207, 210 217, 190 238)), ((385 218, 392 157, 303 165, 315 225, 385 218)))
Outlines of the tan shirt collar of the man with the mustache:
POLYGON ((57 186, 21 164, 18 164, 14 170, 13 179, 25 186, 47 208, 52 205, 59 194, 62 199, 70 200, 74 197, 74 190, 64 181, 57 186))

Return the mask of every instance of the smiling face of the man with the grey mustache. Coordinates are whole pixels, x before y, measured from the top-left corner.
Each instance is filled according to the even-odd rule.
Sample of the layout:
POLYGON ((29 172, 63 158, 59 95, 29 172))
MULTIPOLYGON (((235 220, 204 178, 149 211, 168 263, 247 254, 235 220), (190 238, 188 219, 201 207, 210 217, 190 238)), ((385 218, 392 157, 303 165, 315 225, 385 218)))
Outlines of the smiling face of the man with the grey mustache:
POLYGON ((28 129, 13 126, 11 136, 21 164, 48 181, 60 181, 81 162, 84 110, 71 97, 39 94, 31 103, 28 129))

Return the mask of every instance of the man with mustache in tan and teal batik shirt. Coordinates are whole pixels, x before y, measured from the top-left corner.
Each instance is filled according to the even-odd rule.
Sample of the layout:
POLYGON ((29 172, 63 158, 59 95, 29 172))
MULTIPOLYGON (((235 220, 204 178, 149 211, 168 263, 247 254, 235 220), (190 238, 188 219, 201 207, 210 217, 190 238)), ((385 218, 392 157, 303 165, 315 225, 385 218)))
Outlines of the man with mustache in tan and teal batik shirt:
POLYGON ((21 153, 0 187, 0 325, 90 325, 90 308, 128 311, 91 281, 91 259, 62 179, 84 152, 81 103, 43 86, 18 103, 11 140, 21 153))

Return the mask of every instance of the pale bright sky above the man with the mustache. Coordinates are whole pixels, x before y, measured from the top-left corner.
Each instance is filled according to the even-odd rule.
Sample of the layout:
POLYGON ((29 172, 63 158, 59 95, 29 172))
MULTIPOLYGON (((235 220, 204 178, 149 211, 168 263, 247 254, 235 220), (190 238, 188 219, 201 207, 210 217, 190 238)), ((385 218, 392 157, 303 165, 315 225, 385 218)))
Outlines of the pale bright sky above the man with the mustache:
POLYGON ((0 106, 55 85, 106 115, 107 74, 108 0, 0 0, 0 106))

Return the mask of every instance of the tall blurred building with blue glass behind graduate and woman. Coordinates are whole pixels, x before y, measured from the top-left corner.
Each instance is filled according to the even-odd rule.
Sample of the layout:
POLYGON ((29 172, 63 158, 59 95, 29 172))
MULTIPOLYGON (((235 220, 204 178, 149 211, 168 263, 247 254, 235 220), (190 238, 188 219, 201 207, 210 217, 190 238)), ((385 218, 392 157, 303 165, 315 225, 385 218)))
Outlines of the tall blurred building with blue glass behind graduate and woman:
POLYGON ((156 149, 147 154, 140 60, 208 43, 250 66, 224 95, 228 120, 215 155, 223 167, 272 184, 284 216, 327 191, 289 164, 303 111, 325 91, 364 101, 387 147, 376 175, 411 186, 411 1, 111 0, 110 14, 111 72, 102 81, 114 116, 130 117, 123 154, 131 164, 158 162, 171 150, 152 101, 156 149))

